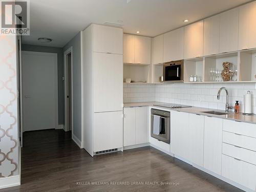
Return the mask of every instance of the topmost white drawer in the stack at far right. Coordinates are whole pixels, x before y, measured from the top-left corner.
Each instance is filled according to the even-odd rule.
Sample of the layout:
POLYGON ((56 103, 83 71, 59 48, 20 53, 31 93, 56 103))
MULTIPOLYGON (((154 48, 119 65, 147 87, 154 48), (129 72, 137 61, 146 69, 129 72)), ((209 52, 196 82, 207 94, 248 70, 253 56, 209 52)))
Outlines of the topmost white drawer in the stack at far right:
POLYGON ((256 124, 223 120, 223 131, 256 138, 256 124))

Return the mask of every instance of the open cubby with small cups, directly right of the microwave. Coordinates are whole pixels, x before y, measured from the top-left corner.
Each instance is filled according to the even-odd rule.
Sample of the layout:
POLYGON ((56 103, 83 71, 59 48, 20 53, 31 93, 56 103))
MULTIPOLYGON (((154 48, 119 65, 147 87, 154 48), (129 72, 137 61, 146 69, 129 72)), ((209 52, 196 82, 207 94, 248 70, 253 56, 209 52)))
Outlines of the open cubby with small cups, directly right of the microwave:
POLYGON ((203 57, 184 60, 184 82, 202 82, 203 65, 203 57))

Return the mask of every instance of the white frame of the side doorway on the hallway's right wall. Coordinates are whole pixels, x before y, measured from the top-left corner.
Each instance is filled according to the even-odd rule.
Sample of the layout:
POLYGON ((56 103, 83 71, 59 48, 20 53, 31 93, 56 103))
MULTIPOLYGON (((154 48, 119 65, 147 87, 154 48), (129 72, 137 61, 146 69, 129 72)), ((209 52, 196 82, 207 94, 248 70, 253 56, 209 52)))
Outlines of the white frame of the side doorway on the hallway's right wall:
POLYGON ((65 52, 64 52, 64 99, 65 99, 65 101, 64 101, 64 104, 65 104, 65 125, 64 125, 64 131, 70 131, 70 130, 68 130, 68 126, 67 126, 67 124, 68 124, 68 109, 67 109, 67 105, 68 105, 68 99, 67 99, 67 96, 68 96, 68 93, 67 93, 67 85, 68 85, 68 82, 67 82, 67 79, 68 79, 68 77, 67 77, 67 55, 68 54, 71 54, 71 63, 70 63, 70 65, 71 65, 71 71, 70 71, 70 73, 71 73, 71 108, 69 108, 69 109, 71 109, 71 115, 72 115, 72 117, 71 117, 71 131, 72 131, 72 138, 73 138, 73 126, 74 126, 74 124, 73 124, 73 122, 74 122, 74 119, 73 119, 73 116, 74 116, 74 110, 73 110, 73 48, 72 48, 72 46, 70 47, 70 48, 68 48, 65 52))

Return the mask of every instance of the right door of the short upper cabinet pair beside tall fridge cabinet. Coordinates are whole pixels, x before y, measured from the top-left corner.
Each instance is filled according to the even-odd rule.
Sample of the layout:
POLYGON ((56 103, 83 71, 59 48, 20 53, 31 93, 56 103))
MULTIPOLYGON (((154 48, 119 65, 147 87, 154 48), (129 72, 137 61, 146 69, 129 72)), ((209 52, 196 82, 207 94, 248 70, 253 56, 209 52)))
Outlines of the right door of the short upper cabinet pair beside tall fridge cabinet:
POLYGON ((135 35, 135 63, 151 64, 151 37, 135 35))

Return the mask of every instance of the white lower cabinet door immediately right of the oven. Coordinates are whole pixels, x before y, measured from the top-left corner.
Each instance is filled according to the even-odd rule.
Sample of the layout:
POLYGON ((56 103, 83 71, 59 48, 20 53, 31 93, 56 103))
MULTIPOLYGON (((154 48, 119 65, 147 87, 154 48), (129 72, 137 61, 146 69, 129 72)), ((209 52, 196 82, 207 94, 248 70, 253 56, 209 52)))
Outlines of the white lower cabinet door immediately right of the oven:
POLYGON ((171 152, 175 155, 182 157, 184 159, 190 159, 189 153, 189 121, 184 119, 189 119, 188 113, 172 111, 171 113, 171 152))

